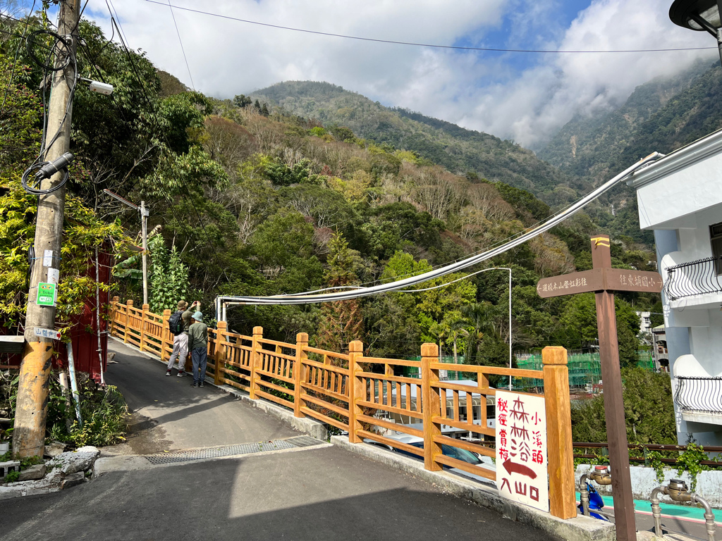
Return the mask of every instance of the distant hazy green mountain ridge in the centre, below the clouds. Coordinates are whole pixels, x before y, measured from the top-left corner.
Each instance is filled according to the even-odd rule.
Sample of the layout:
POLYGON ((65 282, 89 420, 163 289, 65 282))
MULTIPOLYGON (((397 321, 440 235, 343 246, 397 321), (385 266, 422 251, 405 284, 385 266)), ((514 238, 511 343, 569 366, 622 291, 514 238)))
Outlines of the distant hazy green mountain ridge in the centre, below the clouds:
MULTIPOLYGON (((253 92, 252 97, 279 105, 294 115, 316 118, 326 126, 347 126, 357 136, 377 144, 417 152, 419 157, 456 174, 474 172, 479 177, 529 190, 541 198, 548 199, 559 186, 583 188, 575 177, 561 173, 538 159, 534 152, 510 141, 409 110, 384 107, 334 84, 282 82, 253 92)), ((572 198, 574 190, 566 190, 562 197, 572 198)))

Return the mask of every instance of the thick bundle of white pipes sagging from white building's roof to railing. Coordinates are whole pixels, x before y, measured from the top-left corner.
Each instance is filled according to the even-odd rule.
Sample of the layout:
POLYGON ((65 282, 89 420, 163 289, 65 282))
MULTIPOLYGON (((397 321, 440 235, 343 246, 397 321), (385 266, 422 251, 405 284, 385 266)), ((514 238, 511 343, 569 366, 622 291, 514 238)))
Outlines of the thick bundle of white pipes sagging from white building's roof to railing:
POLYGON ((654 152, 653 154, 650 154, 648 157, 645 157, 644 159, 641 159, 639 162, 631 165, 630 167, 627 167, 627 169, 625 169, 624 171, 619 173, 619 175, 613 177, 611 180, 608 180, 603 185, 599 186, 599 188, 596 188, 596 190, 593 190, 593 192, 586 195, 585 198, 574 203, 564 213, 554 216, 554 218, 545 221, 544 224, 541 224, 540 226, 536 227, 535 229, 532 229, 531 231, 528 231, 528 232, 522 234, 520 237, 517 237, 516 239, 514 239, 510 242, 507 242, 505 245, 502 245, 502 246, 497 247, 492 250, 487 250, 486 252, 482 252, 479 255, 471 256, 464 260, 458 261, 457 263, 447 265, 443 268, 436 269, 433 271, 427 271, 426 273, 420 274, 418 276, 413 276, 412 278, 404 278, 403 280, 393 281, 390 283, 383 283, 378 286, 361 288, 361 289, 357 289, 355 291, 348 292, 348 293, 340 292, 340 293, 321 294, 321 295, 284 295, 284 296, 230 296, 230 295, 218 296, 216 299, 217 309, 219 308, 219 306, 222 302, 227 302, 227 301, 241 302, 243 304, 269 305, 269 304, 316 304, 319 302, 335 302, 335 301, 356 299, 356 298, 359 298, 362 296, 370 296, 370 295, 379 294, 379 293, 386 293, 388 291, 398 291, 399 289, 404 289, 408 286, 414 286, 418 283, 422 283, 422 282, 431 280, 432 278, 438 278, 440 276, 445 276, 446 274, 450 274, 450 273, 453 273, 456 271, 461 271, 464 268, 470 267, 472 265, 476 265, 477 263, 482 263, 485 260, 489 260, 491 258, 496 257, 497 255, 501 255, 504 252, 507 252, 508 250, 512 249, 513 247, 521 245, 524 242, 538 236, 539 234, 546 232, 549 229, 552 229, 552 227, 556 226, 557 224, 560 224, 562 221, 564 221, 568 217, 572 216, 573 214, 575 214, 576 212, 580 211, 582 208, 587 206, 588 203, 591 203, 591 201, 595 200, 596 198, 599 198, 599 196, 603 195, 604 193, 606 193, 607 191, 612 189, 615 185, 617 185, 619 182, 621 182, 623 179, 625 179, 625 177, 632 174, 632 172, 635 172, 635 170, 638 170, 640 167, 643 167, 644 165, 646 165, 650 162, 660 159, 661 157, 664 157, 664 155, 659 154, 658 152, 654 152))

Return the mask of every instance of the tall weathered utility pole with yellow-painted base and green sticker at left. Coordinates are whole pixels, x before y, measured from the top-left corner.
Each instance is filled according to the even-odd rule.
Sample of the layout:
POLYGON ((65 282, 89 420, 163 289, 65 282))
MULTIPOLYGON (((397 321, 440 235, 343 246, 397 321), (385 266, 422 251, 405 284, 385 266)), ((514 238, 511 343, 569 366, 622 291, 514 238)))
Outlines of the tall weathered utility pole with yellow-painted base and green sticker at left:
MULTIPOLYGON (((75 55, 78 38, 80 0, 65 0, 60 4, 58 34, 66 37, 71 50, 58 43, 56 65, 67 64, 55 72, 53 91, 48 106, 48 129, 45 144, 60 131, 58 138, 48 149, 45 160, 52 162, 66 153, 70 147, 70 123, 72 116, 71 89, 74 84, 74 62, 67 56, 75 55)), ((44 188, 60 182, 64 172, 57 172, 50 180, 43 181, 44 188)), ((35 260, 31 262, 30 291, 27 296, 25 317, 25 351, 20 365, 17 411, 12 436, 12 451, 19 457, 42 457, 45 448, 45 418, 48 413, 48 383, 51 354, 54 349, 51 338, 37 336, 35 329, 55 329, 55 306, 37 304, 38 283, 56 283, 60 268, 60 249, 65 214, 65 187, 38 200, 38 219, 35 226, 35 260)))

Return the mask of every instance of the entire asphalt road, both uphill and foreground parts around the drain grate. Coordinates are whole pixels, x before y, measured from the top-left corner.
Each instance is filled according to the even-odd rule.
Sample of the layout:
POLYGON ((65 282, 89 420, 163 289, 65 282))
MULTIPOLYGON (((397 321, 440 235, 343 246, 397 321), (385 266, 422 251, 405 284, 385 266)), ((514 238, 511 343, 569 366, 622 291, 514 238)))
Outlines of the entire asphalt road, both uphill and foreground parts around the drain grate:
POLYGON ((108 382, 142 415, 128 443, 103 449, 120 466, 60 493, 0 501, 1 540, 552 539, 336 447, 161 466, 113 457, 298 434, 212 387, 165 377, 157 361, 111 350, 119 362, 108 382))

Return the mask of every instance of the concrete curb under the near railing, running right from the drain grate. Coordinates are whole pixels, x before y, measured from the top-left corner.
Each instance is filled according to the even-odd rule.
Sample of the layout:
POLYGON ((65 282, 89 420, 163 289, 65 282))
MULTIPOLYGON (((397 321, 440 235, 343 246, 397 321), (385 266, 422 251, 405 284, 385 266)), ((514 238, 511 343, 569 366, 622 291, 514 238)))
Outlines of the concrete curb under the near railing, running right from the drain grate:
POLYGON ((505 518, 529 524, 569 541, 614 541, 617 537, 614 524, 578 515, 574 519, 557 519, 548 513, 537 511, 531 507, 509 501, 499 495, 496 488, 466 480, 448 472, 430 472, 424 469, 423 462, 388 452, 373 445, 352 444, 345 436, 331 436, 331 443, 347 451, 360 454, 377 462, 409 473, 428 483, 435 483, 444 491, 474 501, 481 506, 497 511, 505 518))

